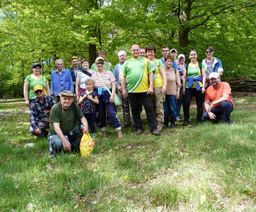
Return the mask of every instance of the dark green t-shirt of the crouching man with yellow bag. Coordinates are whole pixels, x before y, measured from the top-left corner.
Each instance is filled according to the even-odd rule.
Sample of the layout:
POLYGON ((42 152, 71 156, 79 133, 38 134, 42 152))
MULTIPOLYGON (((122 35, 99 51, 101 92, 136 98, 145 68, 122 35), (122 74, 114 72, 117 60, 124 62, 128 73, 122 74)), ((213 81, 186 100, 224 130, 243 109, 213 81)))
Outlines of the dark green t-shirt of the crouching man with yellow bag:
MULTIPOLYGON (((78 111, 79 118, 83 118, 83 113, 81 112, 78 104, 75 103, 76 110, 78 111)), ((74 126, 77 124, 75 120, 75 113, 73 105, 71 105, 67 110, 64 109, 61 105, 61 102, 53 105, 50 110, 50 133, 57 134, 55 132, 53 123, 59 123, 61 131, 64 135, 69 135, 69 132, 72 131, 74 126)))

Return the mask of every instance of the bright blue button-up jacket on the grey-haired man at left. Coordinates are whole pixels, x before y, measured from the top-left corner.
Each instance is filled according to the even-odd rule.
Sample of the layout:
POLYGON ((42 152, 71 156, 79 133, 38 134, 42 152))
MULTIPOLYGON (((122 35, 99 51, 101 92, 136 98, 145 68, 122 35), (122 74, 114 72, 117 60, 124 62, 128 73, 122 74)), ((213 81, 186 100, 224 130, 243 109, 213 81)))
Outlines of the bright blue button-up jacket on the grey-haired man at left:
POLYGON ((58 69, 51 73, 50 95, 59 96, 62 91, 74 92, 72 77, 67 69, 60 75, 58 69))

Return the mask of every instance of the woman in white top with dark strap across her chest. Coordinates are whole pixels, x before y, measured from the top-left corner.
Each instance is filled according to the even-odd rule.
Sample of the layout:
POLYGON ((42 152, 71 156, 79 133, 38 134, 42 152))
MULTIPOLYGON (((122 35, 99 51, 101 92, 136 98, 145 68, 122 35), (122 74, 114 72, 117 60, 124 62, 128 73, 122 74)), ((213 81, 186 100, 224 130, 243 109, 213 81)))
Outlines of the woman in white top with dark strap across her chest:
POLYGON ((81 60, 81 66, 83 68, 82 72, 78 72, 78 76, 75 82, 75 94, 79 96, 83 91, 86 91, 86 80, 91 78, 91 75, 94 73, 94 70, 89 69, 89 59, 84 58, 81 60))

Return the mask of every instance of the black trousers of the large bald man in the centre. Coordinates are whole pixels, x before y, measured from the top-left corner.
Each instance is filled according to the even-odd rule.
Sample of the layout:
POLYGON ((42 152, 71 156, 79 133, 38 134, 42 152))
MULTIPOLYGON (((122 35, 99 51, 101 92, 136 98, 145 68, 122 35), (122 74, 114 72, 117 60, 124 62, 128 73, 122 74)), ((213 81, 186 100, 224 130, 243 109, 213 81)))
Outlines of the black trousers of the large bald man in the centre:
POLYGON ((132 117, 135 122, 136 129, 143 129, 141 118, 140 118, 140 100, 144 106, 148 126, 151 131, 157 129, 157 121, 154 116, 154 110, 151 103, 151 96, 147 92, 143 93, 129 93, 129 104, 132 107, 132 117))

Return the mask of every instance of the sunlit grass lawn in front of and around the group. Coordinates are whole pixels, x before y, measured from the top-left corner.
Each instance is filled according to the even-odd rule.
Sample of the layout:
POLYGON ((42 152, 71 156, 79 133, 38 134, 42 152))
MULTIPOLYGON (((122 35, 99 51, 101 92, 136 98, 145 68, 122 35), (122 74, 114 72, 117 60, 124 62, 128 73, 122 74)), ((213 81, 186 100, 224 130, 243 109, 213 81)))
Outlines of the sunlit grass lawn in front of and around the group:
POLYGON ((0 211, 256 211, 256 97, 234 101, 231 125, 195 126, 192 109, 161 137, 145 119, 140 136, 109 127, 86 159, 49 158, 25 103, 0 102, 0 211))

